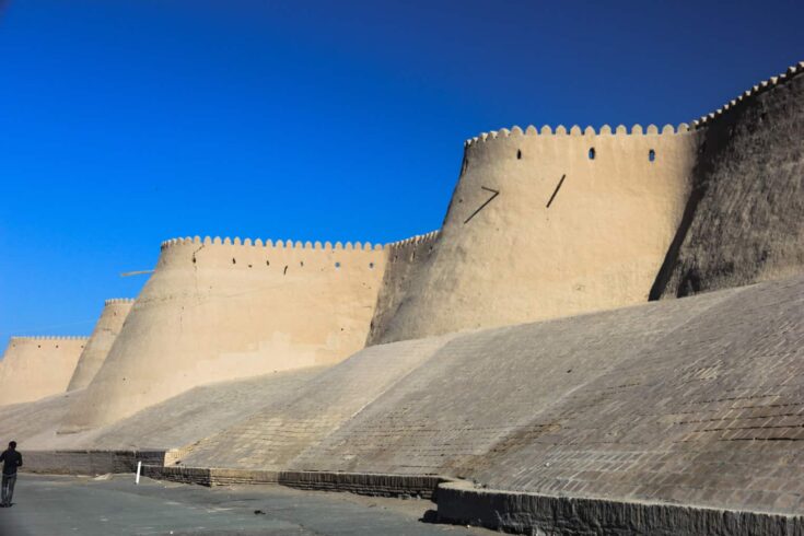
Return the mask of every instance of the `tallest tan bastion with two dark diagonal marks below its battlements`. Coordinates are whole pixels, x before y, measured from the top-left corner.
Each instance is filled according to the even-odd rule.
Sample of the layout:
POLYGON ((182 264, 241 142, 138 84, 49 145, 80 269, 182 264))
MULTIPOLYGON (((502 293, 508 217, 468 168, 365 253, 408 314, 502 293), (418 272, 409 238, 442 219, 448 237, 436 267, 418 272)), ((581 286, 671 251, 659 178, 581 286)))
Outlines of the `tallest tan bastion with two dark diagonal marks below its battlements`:
POLYGON ((434 247, 395 314, 381 299, 372 341, 646 301, 689 194, 695 147, 686 128, 515 129, 471 142, 434 247))

